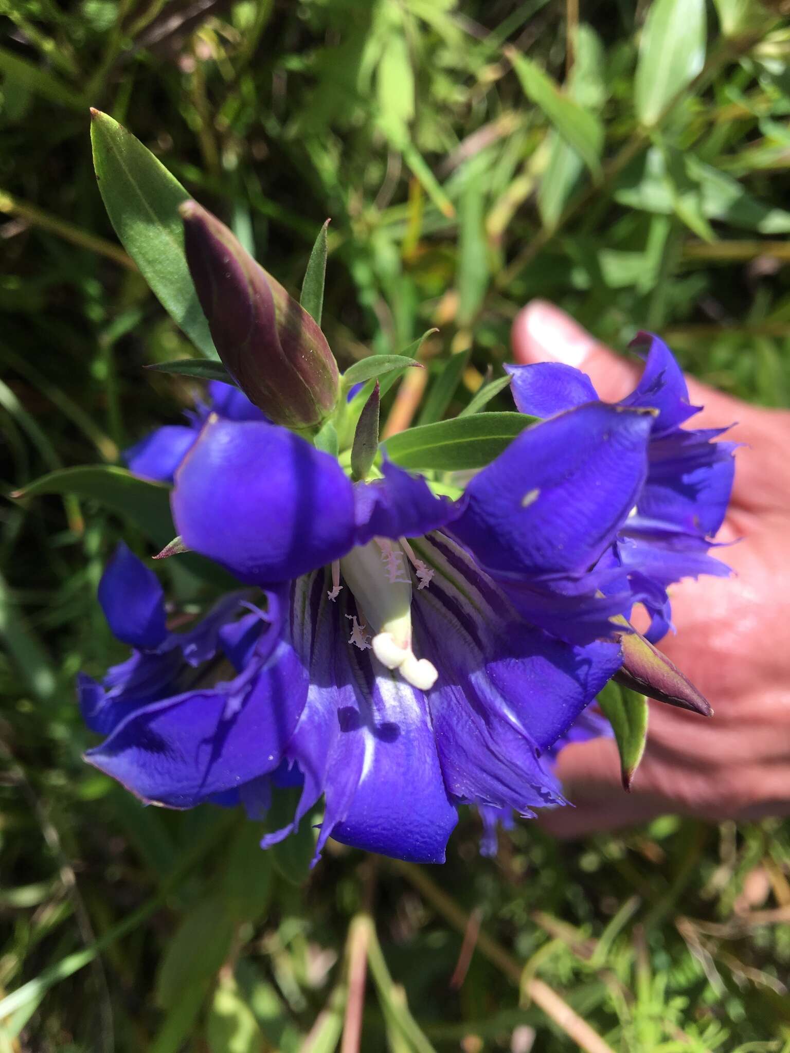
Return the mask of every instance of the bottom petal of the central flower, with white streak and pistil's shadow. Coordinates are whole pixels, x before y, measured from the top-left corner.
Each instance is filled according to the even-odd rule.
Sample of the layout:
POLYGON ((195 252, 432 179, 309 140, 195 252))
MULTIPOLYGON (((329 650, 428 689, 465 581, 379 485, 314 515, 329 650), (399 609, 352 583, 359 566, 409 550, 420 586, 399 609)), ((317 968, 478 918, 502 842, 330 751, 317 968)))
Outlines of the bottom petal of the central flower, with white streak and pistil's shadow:
MULTIPOLYGON (((348 642, 341 593, 327 599, 323 575, 296 583, 296 645, 311 656, 308 701, 287 755, 304 775, 294 819, 324 796, 317 853, 332 836, 400 859, 441 862, 457 814, 448 799, 424 697, 348 642), (403 787, 409 788, 403 793, 403 787)), ((274 843, 292 827, 264 838, 274 843)))

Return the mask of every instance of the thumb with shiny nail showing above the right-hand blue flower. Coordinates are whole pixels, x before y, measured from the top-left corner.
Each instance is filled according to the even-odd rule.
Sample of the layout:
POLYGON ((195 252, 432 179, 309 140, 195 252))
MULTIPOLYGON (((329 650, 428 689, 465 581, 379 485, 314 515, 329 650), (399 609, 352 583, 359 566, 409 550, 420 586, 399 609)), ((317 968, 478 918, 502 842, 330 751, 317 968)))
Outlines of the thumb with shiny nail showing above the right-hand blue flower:
POLYGON ((641 369, 599 343, 565 311, 532 300, 513 322, 513 357, 528 365, 561 362, 587 373, 600 398, 616 402, 633 391, 641 369))

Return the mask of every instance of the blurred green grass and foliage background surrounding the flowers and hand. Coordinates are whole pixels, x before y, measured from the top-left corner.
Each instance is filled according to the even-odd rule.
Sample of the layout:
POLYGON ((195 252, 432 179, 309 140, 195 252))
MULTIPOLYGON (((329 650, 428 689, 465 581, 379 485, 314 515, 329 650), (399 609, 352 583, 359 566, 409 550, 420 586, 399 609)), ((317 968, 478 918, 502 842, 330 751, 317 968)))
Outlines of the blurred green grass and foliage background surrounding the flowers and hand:
MULTIPOLYGON (((534 296, 790 404, 783 6, 0 0, 4 494, 116 462, 196 394, 143 373, 194 352, 106 219, 88 105, 291 287, 332 217, 341 365, 437 325, 427 376, 467 357, 432 413, 500 375, 534 296)), ((74 676, 123 654, 95 602, 120 536, 146 552, 98 503, 0 504, 0 1049, 790 1049, 778 822, 573 845, 520 822, 486 859, 468 814, 443 868, 331 843, 305 877, 303 841, 260 853, 235 812, 144 810, 85 767, 74 676)))

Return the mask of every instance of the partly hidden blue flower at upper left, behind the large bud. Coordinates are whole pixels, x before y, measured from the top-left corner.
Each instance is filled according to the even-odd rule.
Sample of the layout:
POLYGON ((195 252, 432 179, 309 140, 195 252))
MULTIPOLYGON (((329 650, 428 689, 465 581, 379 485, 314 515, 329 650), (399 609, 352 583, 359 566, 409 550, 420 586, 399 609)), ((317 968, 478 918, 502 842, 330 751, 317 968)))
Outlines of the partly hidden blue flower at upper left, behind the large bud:
POLYGON ((164 424, 123 451, 131 472, 155 482, 173 482, 176 469, 197 442, 210 413, 228 420, 265 420, 257 405, 233 384, 210 380, 206 386, 208 400, 186 411, 185 424, 164 424))

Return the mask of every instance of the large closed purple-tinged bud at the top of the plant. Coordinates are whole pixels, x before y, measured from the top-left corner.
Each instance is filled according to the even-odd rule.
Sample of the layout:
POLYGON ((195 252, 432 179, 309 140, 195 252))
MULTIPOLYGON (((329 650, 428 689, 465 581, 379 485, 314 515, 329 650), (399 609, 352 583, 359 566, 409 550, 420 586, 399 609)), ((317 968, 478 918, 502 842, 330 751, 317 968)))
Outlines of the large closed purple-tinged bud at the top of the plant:
POLYGON ((225 369, 270 420, 317 430, 339 392, 323 333, 216 216, 196 201, 179 212, 186 262, 225 369))

